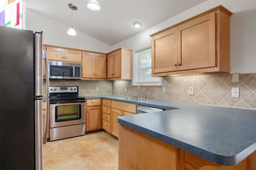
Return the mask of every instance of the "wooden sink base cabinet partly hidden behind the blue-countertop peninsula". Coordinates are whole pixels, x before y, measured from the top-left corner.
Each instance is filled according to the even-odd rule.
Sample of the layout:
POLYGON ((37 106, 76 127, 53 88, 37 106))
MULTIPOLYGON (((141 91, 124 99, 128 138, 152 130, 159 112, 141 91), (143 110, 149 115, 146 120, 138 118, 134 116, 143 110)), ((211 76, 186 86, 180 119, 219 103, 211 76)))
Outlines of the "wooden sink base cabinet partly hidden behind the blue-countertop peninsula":
POLYGON ((118 122, 119 116, 136 114, 136 104, 111 101, 111 134, 118 137, 118 122))

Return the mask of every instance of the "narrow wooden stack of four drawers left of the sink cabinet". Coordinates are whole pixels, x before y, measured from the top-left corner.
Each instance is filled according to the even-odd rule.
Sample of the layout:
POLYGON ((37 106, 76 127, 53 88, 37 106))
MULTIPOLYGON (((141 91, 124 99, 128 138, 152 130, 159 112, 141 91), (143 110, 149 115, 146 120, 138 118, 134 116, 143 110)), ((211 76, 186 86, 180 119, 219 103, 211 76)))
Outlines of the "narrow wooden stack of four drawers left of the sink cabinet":
POLYGON ((102 99, 102 129, 111 133, 111 101, 102 99))

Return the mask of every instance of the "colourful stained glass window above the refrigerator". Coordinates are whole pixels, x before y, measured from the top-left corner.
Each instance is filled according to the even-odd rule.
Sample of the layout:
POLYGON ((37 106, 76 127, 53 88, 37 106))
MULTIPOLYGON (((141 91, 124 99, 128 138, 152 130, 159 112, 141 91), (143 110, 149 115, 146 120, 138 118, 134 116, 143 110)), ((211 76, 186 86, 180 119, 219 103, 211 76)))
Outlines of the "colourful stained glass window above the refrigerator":
POLYGON ((0 0, 0 25, 22 29, 22 0, 0 0))

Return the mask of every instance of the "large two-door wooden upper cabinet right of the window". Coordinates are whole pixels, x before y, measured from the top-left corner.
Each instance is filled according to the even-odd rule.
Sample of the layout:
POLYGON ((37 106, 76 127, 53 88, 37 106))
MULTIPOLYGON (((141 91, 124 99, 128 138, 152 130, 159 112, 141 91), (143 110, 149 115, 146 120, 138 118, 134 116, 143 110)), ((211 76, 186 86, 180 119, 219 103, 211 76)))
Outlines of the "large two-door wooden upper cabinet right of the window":
POLYGON ((152 76, 230 72, 230 15, 217 6, 152 37, 152 76))

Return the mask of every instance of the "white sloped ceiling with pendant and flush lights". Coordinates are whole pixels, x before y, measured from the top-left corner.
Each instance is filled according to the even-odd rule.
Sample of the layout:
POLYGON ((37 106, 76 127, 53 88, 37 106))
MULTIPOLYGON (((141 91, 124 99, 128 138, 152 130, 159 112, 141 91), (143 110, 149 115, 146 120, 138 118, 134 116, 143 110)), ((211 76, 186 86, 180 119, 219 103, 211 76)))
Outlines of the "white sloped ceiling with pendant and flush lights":
MULTIPOLYGON (((98 0, 99 11, 87 8, 89 0, 24 0, 26 8, 71 26, 75 30, 115 45, 206 0, 98 0), (142 27, 132 25, 134 21, 142 27)), ((68 30, 67 30, 68 31, 68 30)))

